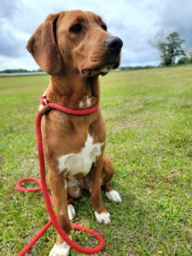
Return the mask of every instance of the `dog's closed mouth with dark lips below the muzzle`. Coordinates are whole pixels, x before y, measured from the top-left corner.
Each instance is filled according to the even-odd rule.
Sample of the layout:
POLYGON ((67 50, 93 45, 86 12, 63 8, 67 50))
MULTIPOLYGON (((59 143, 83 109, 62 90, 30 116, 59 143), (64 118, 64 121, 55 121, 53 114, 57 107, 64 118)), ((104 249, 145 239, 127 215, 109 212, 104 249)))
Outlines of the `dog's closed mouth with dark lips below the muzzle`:
POLYGON ((106 74, 110 72, 112 69, 115 69, 119 67, 119 62, 108 62, 104 64, 100 64, 94 68, 84 68, 81 70, 81 73, 84 74, 85 76, 93 76, 96 74, 106 74))

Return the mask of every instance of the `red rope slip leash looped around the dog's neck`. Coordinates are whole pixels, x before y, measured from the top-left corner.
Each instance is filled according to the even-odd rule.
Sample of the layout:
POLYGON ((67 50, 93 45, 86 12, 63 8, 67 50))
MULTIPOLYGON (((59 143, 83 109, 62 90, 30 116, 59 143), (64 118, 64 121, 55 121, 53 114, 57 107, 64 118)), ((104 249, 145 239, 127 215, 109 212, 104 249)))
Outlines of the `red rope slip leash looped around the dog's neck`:
MULTIPOLYGON (((62 107, 60 105, 46 102, 46 98, 45 97, 42 97, 41 102, 44 104, 45 107, 47 107, 48 110, 54 108, 54 109, 60 110, 61 112, 64 112, 64 113, 78 114, 78 115, 93 113, 93 112, 96 111, 96 109, 98 109, 98 105, 96 105, 93 108, 88 108, 88 109, 84 109, 84 110, 75 110, 75 109, 70 109, 70 108, 64 108, 64 107, 62 107)), ((38 241, 38 239, 41 236, 43 236, 44 232, 49 228, 49 226, 51 224, 54 225, 55 230, 57 230, 57 232, 62 237, 62 239, 64 241, 66 241, 67 244, 70 247, 73 247, 73 249, 75 249, 79 253, 86 253, 86 254, 98 253, 104 247, 104 239, 103 239, 102 236, 100 236, 94 230, 90 230, 88 228, 80 226, 79 224, 71 223, 73 229, 83 230, 84 232, 89 233, 91 236, 95 236, 96 239, 99 241, 99 244, 96 247, 90 247, 90 248, 82 247, 79 244, 77 244, 75 241, 71 240, 67 236, 66 232, 61 228, 61 225, 59 224, 59 222, 58 222, 58 220, 57 220, 57 218, 55 216, 55 212, 53 211, 53 208, 51 206, 51 197, 49 195, 49 191, 48 191, 48 187, 47 187, 47 183, 46 183, 46 177, 45 177, 44 150, 43 150, 43 141, 42 141, 42 133, 41 133, 41 119, 42 119, 42 117, 43 117, 43 115, 41 113, 38 113, 37 118, 36 118, 36 137, 37 137, 37 145, 38 145, 38 160, 39 160, 39 168, 40 168, 41 181, 36 179, 36 178, 34 178, 34 177, 26 177, 26 178, 23 178, 23 179, 19 180, 16 183, 16 189, 19 189, 20 191, 23 191, 23 192, 42 190, 43 191, 43 195, 44 195, 45 205, 47 207, 50 219, 49 219, 49 222, 47 224, 45 224, 44 228, 39 231, 38 235, 35 236, 32 239, 32 241, 30 241, 26 245, 26 247, 24 247, 20 251, 18 256, 25 255, 25 253, 35 244, 35 242, 38 241), (22 182, 25 182, 25 181, 32 181, 32 182, 38 183, 39 187, 38 188, 32 188, 32 189, 22 188, 20 186, 20 184, 22 182)))

